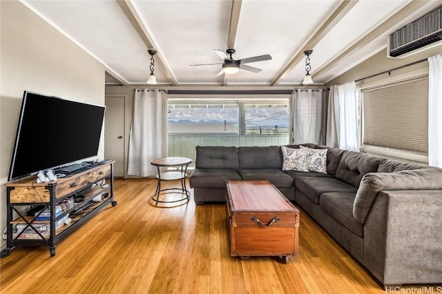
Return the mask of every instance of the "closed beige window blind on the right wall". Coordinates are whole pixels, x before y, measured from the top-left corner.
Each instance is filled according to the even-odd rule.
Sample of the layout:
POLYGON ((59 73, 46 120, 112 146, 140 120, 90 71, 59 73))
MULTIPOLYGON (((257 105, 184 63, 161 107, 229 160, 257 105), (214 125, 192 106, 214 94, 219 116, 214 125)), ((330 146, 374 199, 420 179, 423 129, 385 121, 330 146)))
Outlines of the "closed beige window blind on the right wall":
POLYGON ((428 77, 363 90, 363 144, 428 153, 428 77))

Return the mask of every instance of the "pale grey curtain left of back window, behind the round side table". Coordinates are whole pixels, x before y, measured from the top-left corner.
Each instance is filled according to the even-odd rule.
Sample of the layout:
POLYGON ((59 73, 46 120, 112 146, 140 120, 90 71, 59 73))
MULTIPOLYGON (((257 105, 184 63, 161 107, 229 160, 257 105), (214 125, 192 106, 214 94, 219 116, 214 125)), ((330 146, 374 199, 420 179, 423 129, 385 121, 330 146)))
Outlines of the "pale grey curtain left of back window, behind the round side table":
POLYGON ((160 90, 135 89, 133 119, 129 138, 128 175, 148 177, 157 174, 153 159, 164 157, 166 126, 164 101, 160 90))

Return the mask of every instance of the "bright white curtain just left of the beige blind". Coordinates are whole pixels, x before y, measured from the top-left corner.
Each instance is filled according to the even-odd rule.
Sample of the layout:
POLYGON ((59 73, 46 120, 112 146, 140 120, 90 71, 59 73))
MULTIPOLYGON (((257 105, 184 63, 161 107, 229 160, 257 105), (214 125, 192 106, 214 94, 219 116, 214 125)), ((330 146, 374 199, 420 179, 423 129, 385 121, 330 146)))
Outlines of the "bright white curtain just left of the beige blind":
POLYGON ((331 86, 327 115, 327 139, 329 147, 359 150, 358 99, 356 83, 331 86))

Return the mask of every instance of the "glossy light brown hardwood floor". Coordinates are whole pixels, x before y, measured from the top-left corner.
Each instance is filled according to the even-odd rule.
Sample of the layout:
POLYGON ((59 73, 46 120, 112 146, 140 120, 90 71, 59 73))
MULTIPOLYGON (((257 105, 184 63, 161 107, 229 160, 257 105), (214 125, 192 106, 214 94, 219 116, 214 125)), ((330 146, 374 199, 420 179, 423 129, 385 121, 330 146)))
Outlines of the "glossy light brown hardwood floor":
POLYGON ((158 208, 155 186, 115 179, 117 206, 60 242, 55 257, 21 247, 0 259, 0 292, 386 293, 302 210, 298 256, 240 260, 230 256, 224 204, 158 208))

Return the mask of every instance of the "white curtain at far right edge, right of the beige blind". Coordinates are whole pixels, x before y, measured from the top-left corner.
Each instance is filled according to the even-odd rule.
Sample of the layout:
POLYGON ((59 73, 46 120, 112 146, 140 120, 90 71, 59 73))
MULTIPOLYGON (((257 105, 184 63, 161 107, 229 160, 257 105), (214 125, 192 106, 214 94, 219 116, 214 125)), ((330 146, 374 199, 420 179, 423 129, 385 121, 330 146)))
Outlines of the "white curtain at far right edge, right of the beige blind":
POLYGON ((428 65, 428 164, 442 168, 442 54, 428 65))

